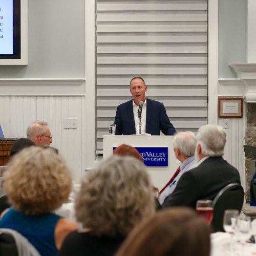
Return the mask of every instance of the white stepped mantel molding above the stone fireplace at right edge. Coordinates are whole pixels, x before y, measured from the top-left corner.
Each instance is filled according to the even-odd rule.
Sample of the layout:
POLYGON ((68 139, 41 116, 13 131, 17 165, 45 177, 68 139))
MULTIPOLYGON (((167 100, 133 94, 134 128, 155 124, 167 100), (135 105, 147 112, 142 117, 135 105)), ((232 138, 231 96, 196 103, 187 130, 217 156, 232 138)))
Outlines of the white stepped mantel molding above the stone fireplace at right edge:
POLYGON ((240 79, 256 79, 256 63, 230 63, 240 79))

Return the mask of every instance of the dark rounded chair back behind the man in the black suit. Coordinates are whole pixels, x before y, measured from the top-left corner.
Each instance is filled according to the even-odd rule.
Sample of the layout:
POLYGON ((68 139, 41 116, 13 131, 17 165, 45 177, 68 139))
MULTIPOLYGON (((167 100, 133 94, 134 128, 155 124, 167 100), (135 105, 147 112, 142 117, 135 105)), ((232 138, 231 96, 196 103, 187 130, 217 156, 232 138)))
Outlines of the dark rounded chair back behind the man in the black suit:
POLYGON ((234 209, 241 211, 244 203, 244 189, 240 184, 231 183, 220 190, 214 199, 214 218, 211 225, 214 232, 222 231, 224 211, 234 209))

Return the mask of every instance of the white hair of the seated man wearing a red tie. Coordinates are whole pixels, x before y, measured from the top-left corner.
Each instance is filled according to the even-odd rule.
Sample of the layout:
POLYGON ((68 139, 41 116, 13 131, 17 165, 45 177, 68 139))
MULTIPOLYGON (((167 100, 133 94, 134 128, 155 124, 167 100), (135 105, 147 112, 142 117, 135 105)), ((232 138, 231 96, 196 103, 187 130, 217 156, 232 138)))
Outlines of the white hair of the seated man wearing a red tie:
POLYGON ((174 136, 173 146, 178 148, 186 156, 194 156, 197 145, 196 135, 193 132, 186 131, 174 136))

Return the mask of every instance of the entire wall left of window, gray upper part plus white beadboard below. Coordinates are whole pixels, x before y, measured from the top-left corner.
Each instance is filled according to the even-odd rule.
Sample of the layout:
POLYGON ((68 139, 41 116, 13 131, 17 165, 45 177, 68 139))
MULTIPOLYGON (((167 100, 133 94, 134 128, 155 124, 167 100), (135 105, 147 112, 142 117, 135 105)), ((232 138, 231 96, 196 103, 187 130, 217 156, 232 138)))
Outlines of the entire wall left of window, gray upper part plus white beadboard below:
POLYGON ((84 19, 84 0, 28 0, 28 66, 0 66, 5 137, 26 137, 31 122, 47 121, 77 182, 86 168, 84 19), (77 118, 77 129, 63 129, 63 118, 77 118))

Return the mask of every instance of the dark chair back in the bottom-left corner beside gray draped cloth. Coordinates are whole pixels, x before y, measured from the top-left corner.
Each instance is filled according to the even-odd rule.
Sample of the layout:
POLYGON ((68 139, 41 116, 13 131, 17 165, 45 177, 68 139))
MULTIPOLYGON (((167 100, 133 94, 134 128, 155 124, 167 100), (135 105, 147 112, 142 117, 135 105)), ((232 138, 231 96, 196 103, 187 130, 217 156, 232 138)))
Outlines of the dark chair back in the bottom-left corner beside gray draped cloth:
POLYGON ((12 234, 10 233, 0 234, 0 255, 18 256, 17 246, 12 234))

